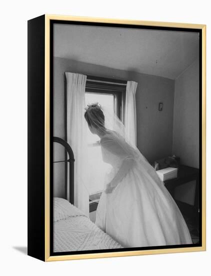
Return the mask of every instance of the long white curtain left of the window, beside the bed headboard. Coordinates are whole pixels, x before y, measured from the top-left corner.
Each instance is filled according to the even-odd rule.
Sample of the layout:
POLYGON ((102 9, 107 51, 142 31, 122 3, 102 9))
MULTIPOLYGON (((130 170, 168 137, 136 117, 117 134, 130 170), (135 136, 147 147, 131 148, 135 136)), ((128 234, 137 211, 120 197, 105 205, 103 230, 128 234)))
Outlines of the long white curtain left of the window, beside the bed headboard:
POLYGON ((65 73, 67 93, 67 142, 74 153, 74 205, 89 215, 89 193, 86 183, 86 122, 85 83, 86 76, 65 73))

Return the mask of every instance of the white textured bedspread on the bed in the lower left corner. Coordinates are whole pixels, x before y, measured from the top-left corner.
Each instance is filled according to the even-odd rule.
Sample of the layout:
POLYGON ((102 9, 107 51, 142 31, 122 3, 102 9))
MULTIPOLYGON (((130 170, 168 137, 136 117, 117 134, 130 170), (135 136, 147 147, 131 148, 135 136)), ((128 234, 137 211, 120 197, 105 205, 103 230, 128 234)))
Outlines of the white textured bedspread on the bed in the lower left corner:
POLYGON ((67 200, 53 201, 53 252, 122 248, 67 200))

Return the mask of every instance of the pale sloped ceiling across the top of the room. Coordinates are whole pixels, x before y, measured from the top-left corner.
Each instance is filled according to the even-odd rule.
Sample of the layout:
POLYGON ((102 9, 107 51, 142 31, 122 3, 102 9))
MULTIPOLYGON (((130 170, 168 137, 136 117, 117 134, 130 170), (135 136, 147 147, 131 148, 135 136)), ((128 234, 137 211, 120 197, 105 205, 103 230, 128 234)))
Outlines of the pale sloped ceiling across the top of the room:
POLYGON ((54 24, 55 57, 178 77, 198 57, 198 33, 54 24))

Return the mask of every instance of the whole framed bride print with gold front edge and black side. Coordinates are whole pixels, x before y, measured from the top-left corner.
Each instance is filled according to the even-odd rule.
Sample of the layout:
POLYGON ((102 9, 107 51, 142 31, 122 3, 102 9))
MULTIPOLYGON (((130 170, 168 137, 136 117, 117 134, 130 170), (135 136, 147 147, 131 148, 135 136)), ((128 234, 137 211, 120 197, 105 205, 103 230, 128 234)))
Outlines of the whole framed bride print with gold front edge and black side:
POLYGON ((205 25, 28 21, 28 255, 205 250, 205 25))

